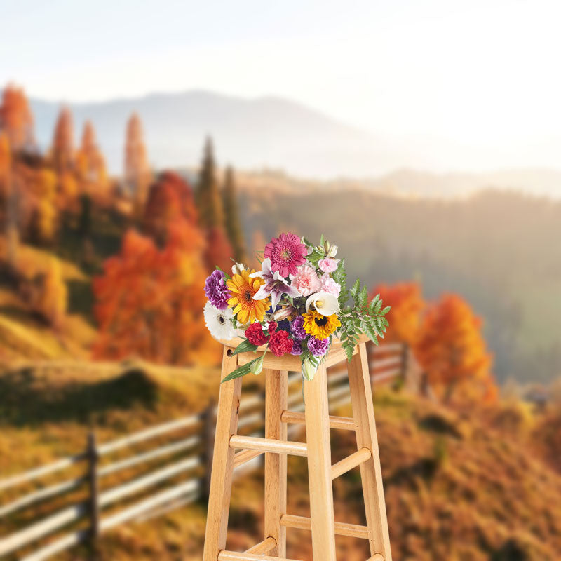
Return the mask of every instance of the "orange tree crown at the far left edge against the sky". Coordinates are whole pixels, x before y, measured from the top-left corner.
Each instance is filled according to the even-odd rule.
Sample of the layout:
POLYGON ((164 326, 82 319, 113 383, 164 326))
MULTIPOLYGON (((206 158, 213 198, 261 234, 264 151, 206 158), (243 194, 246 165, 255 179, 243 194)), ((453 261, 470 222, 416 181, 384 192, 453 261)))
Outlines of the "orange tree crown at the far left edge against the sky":
POLYGON ((13 151, 34 147, 33 115, 22 88, 8 84, 2 93, 0 130, 8 135, 13 151))

